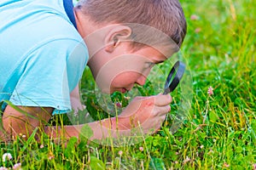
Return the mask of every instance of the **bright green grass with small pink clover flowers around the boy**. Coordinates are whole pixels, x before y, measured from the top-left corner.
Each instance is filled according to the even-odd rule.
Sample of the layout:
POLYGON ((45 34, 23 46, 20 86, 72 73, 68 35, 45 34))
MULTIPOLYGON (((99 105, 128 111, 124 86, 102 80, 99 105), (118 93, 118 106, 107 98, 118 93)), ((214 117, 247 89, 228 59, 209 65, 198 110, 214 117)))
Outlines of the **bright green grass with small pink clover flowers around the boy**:
MULTIPOLYGON (((186 61, 187 78, 192 78, 186 84, 184 77, 184 87, 191 88, 190 109, 177 132, 170 133, 172 122, 167 121, 159 133, 121 147, 88 145, 86 139, 78 142, 74 138, 65 147, 44 135, 44 145, 40 145, 32 134, 27 141, 20 137, 1 144, 0 156, 9 152, 13 159, 0 159, 0 167, 21 162, 23 169, 256 169, 256 2, 181 3, 189 27, 177 57, 186 61), (210 86, 214 88, 211 96, 207 94, 210 86)), ((168 65, 160 68, 169 71, 168 65)), ((164 79, 161 76, 160 82, 164 79)), ((82 80, 84 104, 91 113, 98 113, 92 115, 94 119, 100 119, 108 114, 97 105, 94 87, 86 69, 82 80)), ((152 94, 151 87, 148 82, 138 91, 152 94)), ((172 114, 181 105, 179 92, 172 94, 172 114)), ((127 105, 121 94, 114 94, 113 99, 127 105)), ((67 116, 55 119, 69 123, 67 116)))

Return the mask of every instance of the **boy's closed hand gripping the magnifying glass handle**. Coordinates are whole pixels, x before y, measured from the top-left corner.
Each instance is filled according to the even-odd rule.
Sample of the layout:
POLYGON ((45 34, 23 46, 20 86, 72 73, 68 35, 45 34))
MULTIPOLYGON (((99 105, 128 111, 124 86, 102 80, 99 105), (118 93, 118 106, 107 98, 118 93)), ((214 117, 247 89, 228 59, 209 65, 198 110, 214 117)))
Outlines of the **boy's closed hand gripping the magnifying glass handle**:
POLYGON ((166 114, 171 111, 171 102, 170 94, 136 97, 119 115, 119 122, 116 126, 119 130, 127 130, 140 125, 143 133, 151 132, 151 130, 155 133, 165 121, 166 114))

